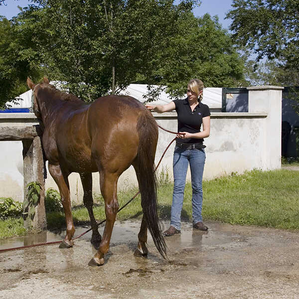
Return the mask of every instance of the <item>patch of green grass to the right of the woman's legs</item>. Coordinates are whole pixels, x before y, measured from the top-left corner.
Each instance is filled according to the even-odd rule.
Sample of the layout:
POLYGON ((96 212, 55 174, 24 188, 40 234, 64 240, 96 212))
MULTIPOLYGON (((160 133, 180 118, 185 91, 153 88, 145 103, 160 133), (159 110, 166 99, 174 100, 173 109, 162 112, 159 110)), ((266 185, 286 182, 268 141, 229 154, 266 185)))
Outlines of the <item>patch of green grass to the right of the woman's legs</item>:
POLYGON ((250 171, 203 183, 204 219, 299 229, 299 171, 250 171))

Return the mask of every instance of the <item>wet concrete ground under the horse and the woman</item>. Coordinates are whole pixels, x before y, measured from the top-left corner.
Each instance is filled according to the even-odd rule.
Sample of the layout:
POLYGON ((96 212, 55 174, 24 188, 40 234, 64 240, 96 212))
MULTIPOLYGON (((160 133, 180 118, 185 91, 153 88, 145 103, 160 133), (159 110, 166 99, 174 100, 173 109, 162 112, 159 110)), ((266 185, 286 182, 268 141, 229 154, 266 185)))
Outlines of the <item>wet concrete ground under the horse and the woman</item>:
MULTIPOLYGON (((70 249, 49 245, 1 253, 0 298, 299 299, 299 232, 206 224, 208 232, 183 223, 180 235, 166 238, 169 261, 151 238, 148 258, 133 256, 139 221, 116 222, 102 267, 87 266, 95 253, 91 233, 70 249)), ((76 235, 84 230, 77 228, 76 235)), ((63 236, 11 238, 0 249, 63 236)))

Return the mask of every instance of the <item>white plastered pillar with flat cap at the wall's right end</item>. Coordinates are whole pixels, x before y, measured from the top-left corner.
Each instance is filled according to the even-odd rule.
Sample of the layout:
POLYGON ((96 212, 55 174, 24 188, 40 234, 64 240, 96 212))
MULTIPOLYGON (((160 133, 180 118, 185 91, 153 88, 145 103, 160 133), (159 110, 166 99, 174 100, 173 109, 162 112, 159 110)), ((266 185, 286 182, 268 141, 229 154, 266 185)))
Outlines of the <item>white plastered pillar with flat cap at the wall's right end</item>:
MULTIPOLYGON (((281 168, 282 90, 281 86, 248 87, 248 112, 267 113, 264 128, 263 169, 281 168)), ((253 128, 254 130, 254 128, 253 128)))

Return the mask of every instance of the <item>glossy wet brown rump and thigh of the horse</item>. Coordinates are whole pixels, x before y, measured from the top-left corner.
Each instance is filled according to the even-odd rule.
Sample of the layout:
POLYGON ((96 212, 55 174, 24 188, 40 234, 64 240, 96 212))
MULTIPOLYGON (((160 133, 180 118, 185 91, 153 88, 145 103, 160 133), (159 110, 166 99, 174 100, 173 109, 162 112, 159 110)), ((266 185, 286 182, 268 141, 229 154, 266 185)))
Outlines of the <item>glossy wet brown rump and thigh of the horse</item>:
POLYGON ((151 113, 129 96, 99 98, 88 110, 92 155, 101 162, 100 167, 105 163, 112 171, 124 171, 138 153, 140 120, 146 117, 155 123, 151 113))

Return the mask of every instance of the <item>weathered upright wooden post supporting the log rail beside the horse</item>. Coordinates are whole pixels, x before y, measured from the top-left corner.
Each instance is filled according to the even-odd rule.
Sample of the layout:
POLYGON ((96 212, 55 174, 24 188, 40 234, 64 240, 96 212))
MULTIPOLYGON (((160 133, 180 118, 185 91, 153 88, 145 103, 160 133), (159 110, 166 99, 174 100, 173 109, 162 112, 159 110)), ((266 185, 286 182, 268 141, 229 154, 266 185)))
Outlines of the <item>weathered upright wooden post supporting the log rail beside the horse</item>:
POLYGON ((47 228, 45 212, 45 179, 44 162, 41 140, 39 136, 33 140, 23 140, 23 171, 24 171, 24 198, 27 196, 27 184, 36 181, 40 184, 40 199, 35 206, 35 215, 33 220, 24 219, 24 227, 37 230, 47 228))

